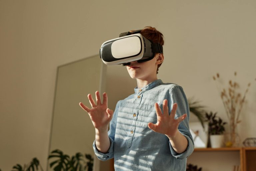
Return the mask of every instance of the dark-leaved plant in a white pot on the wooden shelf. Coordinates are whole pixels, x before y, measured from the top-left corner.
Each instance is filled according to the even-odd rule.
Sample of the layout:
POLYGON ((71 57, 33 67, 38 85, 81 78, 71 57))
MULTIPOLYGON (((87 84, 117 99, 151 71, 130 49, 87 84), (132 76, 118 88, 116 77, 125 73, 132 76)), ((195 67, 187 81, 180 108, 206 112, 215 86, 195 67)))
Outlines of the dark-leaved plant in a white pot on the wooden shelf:
MULTIPOLYGON (((210 139, 210 144, 212 148, 220 148, 224 145, 224 125, 220 117, 216 117, 217 112, 206 113, 206 121, 208 122, 208 135, 210 139)), ((208 141, 209 141, 208 139, 208 141)))

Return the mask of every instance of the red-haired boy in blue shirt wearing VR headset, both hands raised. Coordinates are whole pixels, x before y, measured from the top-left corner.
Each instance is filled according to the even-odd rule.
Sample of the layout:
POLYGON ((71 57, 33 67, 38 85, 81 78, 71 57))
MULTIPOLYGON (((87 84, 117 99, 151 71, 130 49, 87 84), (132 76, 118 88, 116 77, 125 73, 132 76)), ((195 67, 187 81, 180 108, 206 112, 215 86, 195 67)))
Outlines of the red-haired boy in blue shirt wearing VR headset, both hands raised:
MULTIPOLYGON (((88 95, 91 109, 80 103, 95 127, 95 154, 100 160, 114 157, 115 171, 185 171, 186 158, 194 150, 188 125, 189 106, 182 87, 157 79, 158 68, 164 60, 163 35, 153 27, 123 34, 121 38, 110 41, 112 54, 108 53, 107 64, 114 61, 126 65, 131 78, 137 80, 135 93, 118 101, 115 112, 107 108, 106 93, 103 93, 103 103, 98 91, 95 93, 96 102, 91 94, 88 95), (133 40, 128 39, 133 39, 131 36, 135 34, 140 34, 134 40, 141 40, 138 45, 144 54, 135 61, 136 55, 120 57, 114 47, 129 44, 133 40), (153 57, 145 55, 150 46, 147 40, 153 57)), ((110 43, 106 44, 109 46, 110 43)), ((135 54, 142 53, 136 51, 135 54)), ((101 58, 105 63, 103 52, 104 48, 101 48, 101 58)))

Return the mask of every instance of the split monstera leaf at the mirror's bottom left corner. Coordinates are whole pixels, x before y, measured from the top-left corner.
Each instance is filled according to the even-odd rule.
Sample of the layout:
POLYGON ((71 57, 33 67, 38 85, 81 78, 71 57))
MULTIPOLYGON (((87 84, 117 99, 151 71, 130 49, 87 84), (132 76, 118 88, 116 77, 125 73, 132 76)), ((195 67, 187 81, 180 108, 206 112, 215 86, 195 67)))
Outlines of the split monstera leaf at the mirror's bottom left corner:
POLYGON ((70 157, 68 155, 64 155, 61 150, 53 150, 51 152, 52 155, 49 155, 50 158, 57 158, 57 160, 50 163, 50 167, 52 168, 54 165, 54 171, 68 171, 70 168, 70 157))

